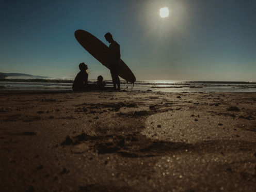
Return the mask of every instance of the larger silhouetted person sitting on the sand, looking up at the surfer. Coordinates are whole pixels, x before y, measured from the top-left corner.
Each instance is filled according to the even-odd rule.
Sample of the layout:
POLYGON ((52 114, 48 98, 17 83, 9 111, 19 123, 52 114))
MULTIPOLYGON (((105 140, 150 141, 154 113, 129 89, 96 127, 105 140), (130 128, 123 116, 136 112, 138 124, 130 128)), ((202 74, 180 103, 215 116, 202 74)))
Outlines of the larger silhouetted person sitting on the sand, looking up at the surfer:
POLYGON ((72 85, 73 90, 85 90, 88 87, 88 67, 82 62, 79 64, 79 69, 80 72, 77 73, 72 85))

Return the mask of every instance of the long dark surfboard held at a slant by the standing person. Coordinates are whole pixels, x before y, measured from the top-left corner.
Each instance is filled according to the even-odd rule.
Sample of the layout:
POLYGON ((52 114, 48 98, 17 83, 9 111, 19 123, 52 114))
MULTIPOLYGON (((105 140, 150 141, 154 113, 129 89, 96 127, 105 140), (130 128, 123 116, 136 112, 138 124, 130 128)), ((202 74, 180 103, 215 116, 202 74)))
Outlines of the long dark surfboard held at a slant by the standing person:
MULTIPOLYGON (((75 38, 84 47, 84 49, 88 51, 95 59, 97 59, 102 63, 102 65, 110 69, 110 64, 106 59, 108 58, 108 55, 110 53, 109 48, 105 43, 103 43, 101 40, 88 33, 87 31, 81 29, 75 31, 75 38)), ((136 81, 133 72, 123 62, 122 59, 120 61, 118 75, 130 83, 134 83, 136 81)))

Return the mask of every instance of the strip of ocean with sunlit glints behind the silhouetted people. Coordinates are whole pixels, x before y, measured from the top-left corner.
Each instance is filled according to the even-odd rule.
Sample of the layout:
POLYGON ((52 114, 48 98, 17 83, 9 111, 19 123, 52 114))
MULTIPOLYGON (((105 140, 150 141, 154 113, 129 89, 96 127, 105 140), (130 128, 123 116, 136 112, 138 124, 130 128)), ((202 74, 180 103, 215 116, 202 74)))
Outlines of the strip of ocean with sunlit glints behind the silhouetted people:
MULTIPOLYGON (((62 81, 63 82, 63 81, 62 81)), ((90 80, 95 84, 95 80, 90 80)), ((113 86, 105 81, 107 87, 113 86)), ((1 90, 72 90, 72 83, 58 82, 0 82, 1 90)), ((256 82, 213 82, 213 81, 136 81, 126 84, 121 81, 121 90, 162 92, 256 92, 256 82)))

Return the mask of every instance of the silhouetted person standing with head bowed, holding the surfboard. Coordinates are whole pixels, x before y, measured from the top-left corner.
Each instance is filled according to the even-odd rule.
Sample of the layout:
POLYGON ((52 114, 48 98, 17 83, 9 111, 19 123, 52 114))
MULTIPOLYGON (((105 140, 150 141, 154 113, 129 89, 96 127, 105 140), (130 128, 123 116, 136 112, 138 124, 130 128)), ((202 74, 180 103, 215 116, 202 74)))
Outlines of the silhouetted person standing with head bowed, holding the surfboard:
POLYGON ((105 39, 109 42, 109 63, 110 63, 110 73, 114 85, 114 89, 120 90, 120 79, 118 77, 119 63, 120 63, 120 45, 114 41, 110 33, 105 34, 105 39), (116 87, 117 86, 117 87, 116 87))

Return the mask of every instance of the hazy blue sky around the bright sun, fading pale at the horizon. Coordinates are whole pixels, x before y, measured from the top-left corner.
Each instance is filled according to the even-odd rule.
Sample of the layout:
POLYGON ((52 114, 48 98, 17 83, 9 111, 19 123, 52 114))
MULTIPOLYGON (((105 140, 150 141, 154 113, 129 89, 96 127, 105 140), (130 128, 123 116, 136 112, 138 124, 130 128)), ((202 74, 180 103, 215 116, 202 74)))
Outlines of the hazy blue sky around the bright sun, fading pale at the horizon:
POLYGON ((0 6, 0 72, 89 78, 109 70, 76 41, 110 32, 138 80, 256 81, 254 0, 13 1, 0 6), (168 18, 159 9, 168 7, 168 18))

